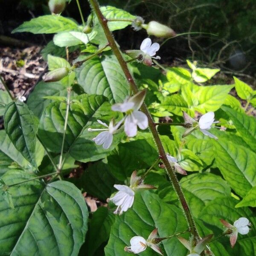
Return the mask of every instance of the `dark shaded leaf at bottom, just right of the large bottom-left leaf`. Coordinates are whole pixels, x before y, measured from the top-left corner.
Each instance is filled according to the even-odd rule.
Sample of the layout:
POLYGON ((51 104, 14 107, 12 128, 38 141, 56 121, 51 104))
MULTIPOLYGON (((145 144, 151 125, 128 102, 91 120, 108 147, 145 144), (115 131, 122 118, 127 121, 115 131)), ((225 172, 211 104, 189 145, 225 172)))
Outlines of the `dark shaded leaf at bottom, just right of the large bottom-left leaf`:
POLYGON ((93 213, 93 218, 88 227, 86 243, 84 244, 85 248, 81 250, 83 255, 96 255, 95 252, 98 247, 103 242, 108 241, 111 226, 114 221, 115 216, 112 212, 108 211, 107 207, 99 207, 96 212, 93 213))

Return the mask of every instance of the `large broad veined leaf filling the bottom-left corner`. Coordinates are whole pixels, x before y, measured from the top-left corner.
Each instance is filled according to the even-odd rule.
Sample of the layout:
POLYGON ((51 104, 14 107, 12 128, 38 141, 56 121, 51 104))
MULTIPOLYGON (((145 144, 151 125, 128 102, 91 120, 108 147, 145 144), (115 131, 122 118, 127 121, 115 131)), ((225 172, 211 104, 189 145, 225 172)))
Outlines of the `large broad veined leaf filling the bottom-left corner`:
MULTIPOLYGON (((35 175, 11 170, 7 185, 35 175)), ((87 231, 88 211, 79 189, 67 181, 41 180, 10 187, 15 209, 0 195, 2 255, 78 255, 87 231)))

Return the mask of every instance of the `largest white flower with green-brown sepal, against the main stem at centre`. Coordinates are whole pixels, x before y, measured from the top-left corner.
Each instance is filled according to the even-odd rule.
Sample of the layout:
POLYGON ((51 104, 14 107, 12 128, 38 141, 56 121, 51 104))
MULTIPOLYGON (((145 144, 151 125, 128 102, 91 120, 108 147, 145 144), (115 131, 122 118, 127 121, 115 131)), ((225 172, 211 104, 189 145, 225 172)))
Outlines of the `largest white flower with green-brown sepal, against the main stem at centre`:
POLYGON ((136 93, 123 103, 117 103, 112 106, 113 111, 126 113, 125 115, 125 133, 128 137, 134 137, 137 134, 137 126, 145 130, 148 128, 148 117, 139 111, 145 99, 146 91, 142 90, 136 93))

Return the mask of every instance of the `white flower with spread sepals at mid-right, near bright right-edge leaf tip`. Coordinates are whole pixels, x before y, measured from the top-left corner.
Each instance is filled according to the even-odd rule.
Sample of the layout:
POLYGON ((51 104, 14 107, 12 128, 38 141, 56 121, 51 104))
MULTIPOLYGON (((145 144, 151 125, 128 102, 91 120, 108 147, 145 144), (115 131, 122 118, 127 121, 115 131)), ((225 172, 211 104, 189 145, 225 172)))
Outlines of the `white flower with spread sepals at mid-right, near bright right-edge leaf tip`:
POLYGON ((184 118, 184 126, 188 127, 188 129, 184 132, 182 137, 186 137, 189 134, 192 133, 192 131, 195 131, 196 129, 199 129, 204 135, 209 136, 211 138, 214 138, 215 140, 218 140, 218 138, 211 134, 209 131, 212 124, 218 123, 219 121, 214 121, 214 112, 208 112, 200 117, 199 121, 196 121, 191 116, 189 116, 186 112, 183 111, 183 118, 184 118))

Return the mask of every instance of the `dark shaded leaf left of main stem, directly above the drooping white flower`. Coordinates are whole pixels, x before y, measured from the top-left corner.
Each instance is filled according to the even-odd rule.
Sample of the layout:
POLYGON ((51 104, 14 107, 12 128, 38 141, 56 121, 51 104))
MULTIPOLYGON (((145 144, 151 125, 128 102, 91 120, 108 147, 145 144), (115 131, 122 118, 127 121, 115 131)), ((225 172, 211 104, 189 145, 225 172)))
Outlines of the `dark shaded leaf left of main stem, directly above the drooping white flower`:
POLYGON ((118 150, 108 156, 108 166, 114 177, 124 181, 134 170, 150 167, 157 158, 152 138, 140 137, 135 141, 119 144, 118 150))

